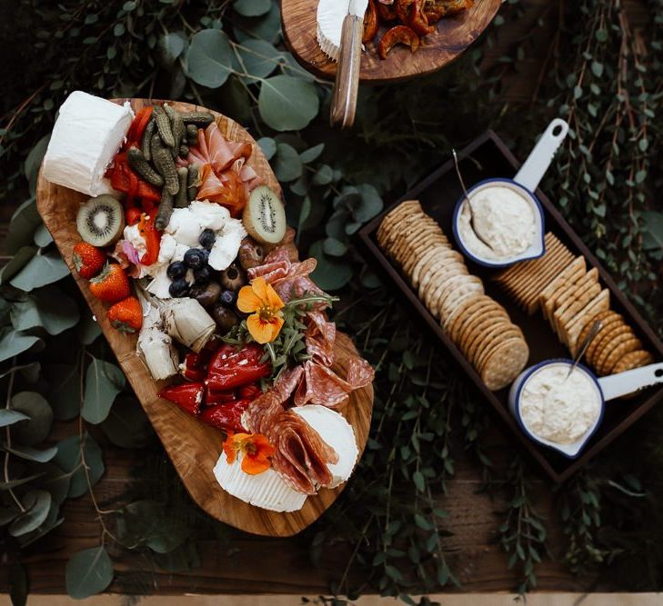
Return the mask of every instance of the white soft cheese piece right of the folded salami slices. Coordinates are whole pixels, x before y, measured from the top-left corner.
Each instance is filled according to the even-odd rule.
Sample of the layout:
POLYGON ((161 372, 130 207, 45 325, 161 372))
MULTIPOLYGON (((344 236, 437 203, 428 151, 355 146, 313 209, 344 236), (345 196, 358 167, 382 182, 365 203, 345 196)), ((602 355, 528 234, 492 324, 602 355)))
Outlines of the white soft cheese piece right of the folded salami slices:
POLYGON ((350 423, 339 412, 319 404, 296 406, 291 410, 313 427, 320 437, 337 452, 338 462, 328 465, 329 471, 334 476, 330 488, 336 488, 339 484, 347 482, 355 469, 359 456, 355 432, 350 423))

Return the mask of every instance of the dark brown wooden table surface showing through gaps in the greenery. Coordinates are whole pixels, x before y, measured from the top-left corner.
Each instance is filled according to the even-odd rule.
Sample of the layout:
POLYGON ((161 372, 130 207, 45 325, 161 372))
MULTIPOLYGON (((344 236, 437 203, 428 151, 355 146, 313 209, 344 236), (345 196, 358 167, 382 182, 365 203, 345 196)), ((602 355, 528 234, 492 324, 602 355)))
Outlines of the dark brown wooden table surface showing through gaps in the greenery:
MULTIPOLYGON (((520 40, 536 19, 548 10, 557 10, 557 3, 548 0, 529 0, 523 3, 525 15, 499 33, 497 45, 487 49, 485 66, 496 65, 498 57, 505 55, 507 48, 520 40)), ((647 20, 647 13, 638 0, 631 0, 638 20, 647 20)), ((540 36, 544 39, 545 36, 540 36)), ((537 75, 546 55, 547 45, 533 49, 530 58, 519 66, 517 77, 505 83, 509 98, 518 102, 530 98, 537 84, 537 75)), ((14 209, 0 208, 0 250, 7 233, 7 222, 14 209)), ((55 439, 73 431, 65 424, 56 426, 55 439)), ((507 453, 513 447, 499 432, 495 440, 504 442, 507 453)), ((105 476, 95 488, 99 501, 104 501, 126 487, 130 471, 141 457, 140 451, 127 451, 112 446, 104 448, 105 476)), ((449 493, 443 506, 450 513, 447 528, 454 535, 446 540, 450 551, 449 564, 462 583, 461 591, 508 591, 513 589, 517 577, 507 570, 507 557, 495 542, 494 532, 500 518, 496 515, 503 508, 499 500, 477 494, 481 487, 480 472, 459 453, 457 471, 447 482, 449 493)), ((541 476, 540 511, 546 516, 551 534, 550 546, 553 555, 562 549, 561 529, 556 522, 558 516, 552 511, 549 486, 541 476)), ((29 568, 30 591, 35 593, 63 593, 65 563, 75 551, 98 544, 99 526, 89 499, 84 496, 68 501, 64 508, 65 522, 44 540, 37 543, 25 561, 29 568)), ((199 551, 202 568, 193 573, 172 574, 152 571, 153 582, 147 592, 176 593, 291 593, 323 594, 329 591, 328 583, 335 575, 330 571, 345 565, 345 554, 329 553, 325 565, 314 567, 308 561, 308 546, 300 537, 289 539, 264 539, 240 531, 231 531, 232 555, 218 550, 215 540, 201 541, 199 551), (259 557, 256 554, 259 553, 259 557), (275 565, 275 561, 278 565, 275 565)), ((146 562, 131 554, 115 562, 116 579, 109 591, 122 592, 123 580, 133 571, 145 570, 146 562)), ((0 567, 3 568, 3 567, 0 567)), ((4 567, 6 568, 6 567, 4 567)), ((543 561, 537 567, 538 589, 548 591, 584 591, 591 580, 574 579, 568 571, 554 561, 543 561)), ((5 572, 0 573, 0 591, 6 591, 5 572)))

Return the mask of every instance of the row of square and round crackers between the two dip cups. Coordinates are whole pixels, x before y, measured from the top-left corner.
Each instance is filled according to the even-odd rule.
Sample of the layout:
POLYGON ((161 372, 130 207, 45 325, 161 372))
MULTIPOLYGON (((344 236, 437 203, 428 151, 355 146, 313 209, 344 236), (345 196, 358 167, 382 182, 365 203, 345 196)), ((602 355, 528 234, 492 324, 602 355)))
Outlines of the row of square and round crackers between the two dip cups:
POLYGON ((624 318, 610 310, 610 292, 601 288, 598 270, 588 270, 585 257, 574 258, 552 233, 546 234, 546 254, 509 267, 497 275, 496 282, 528 313, 540 308, 573 355, 600 321, 603 326, 585 354, 598 375, 622 373, 654 361, 624 318))

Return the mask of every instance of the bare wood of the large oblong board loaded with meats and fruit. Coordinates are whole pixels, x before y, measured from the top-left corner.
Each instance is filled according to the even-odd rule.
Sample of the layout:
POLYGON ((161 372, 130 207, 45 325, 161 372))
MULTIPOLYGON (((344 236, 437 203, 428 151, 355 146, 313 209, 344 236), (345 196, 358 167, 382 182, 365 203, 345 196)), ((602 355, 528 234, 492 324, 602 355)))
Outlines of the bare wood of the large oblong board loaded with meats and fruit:
MULTIPOLYGON (((146 104, 153 103, 143 99, 116 100, 117 103, 124 101, 130 101, 135 111, 146 104)), ((172 105, 182 111, 203 109, 190 104, 172 103, 172 105)), ((253 137, 226 116, 216 114, 216 122, 228 139, 253 144, 254 152, 248 164, 256 170, 257 174, 265 178, 272 189, 280 192, 276 176, 272 173, 265 155, 253 137)), ((79 204, 86 198, 85 194, 51 184, 41 174, 39 175, 37 184, 39 214, 42 215, 46 227, 53 235, 55 244, 73 273, 92 313, 95 314, 106 340, 116 354, 117 361, 154 425, 186 490, 194 501, 211 516, 243 531, 279 537, 291 536, 302 531, 306 526, 315 522, 336 500, 345 484, 334 490, 322 489, 317 496, 308 497, 300 511, 293 513, 276 513, 258 509, 221 489, 212 472, 216 460, 222 452, 220 432, 196 421, 176 405, 166 402, 156 395, 163 385, 152 379, 145 365, 136 356, 136 335, 123 335, 110 326, 106 319, 104 303, 99 302, 90 294, 87 281, 81 279, 74 271, 71 263, 72 249, 75 243, 80 242, 80 236, 75 227, 75 217, 79 204)), ((337 334, 335 353, 334 370, 345 376, 347 357, 357 354, 355 346, 347 335, 337 334)), ((352 424, 361 452, 366 446, 372 410, 373 388, 368 386, 352 393, 350 401, 339 411, 352 424)))

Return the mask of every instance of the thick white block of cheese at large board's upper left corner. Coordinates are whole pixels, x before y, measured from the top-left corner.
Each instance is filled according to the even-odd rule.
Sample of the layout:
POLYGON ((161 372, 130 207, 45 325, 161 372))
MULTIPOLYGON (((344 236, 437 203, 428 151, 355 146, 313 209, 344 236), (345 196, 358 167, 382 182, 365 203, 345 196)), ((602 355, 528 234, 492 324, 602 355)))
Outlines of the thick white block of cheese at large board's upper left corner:
POLYGON ((74 91, 60 107, 48 143, 45 179, 91 196, 112 194, 105 169, 124 143, 133 119, 128 102, 118 105, 74 91))

